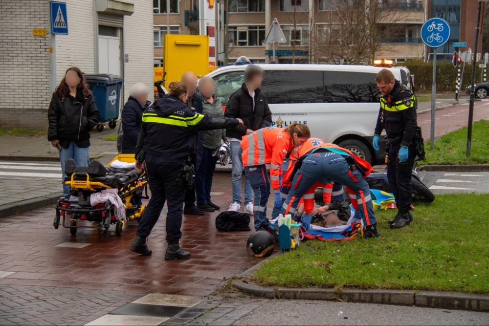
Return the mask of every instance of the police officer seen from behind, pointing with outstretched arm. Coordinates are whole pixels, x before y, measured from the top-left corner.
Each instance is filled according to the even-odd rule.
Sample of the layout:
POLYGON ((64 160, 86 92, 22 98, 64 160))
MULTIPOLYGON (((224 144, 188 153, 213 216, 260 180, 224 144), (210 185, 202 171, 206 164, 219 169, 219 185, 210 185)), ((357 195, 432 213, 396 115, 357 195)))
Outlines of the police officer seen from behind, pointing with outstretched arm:
MULTIPOLYGON (((131 251, 144 256, 152 251, 146 238, 156 224, 165 201, 168 201, 166 216, 165 259, 188 259, 190 253, 180 248, 183 198, 188 179, 188 157, 194 153, 195 133, 203 130, 235 128, 243 124, 241 119, 217 118, 202 115, 186 105, 187 87, 181 82, 169 85, 170 93, 156 100, 143 113, 143 123, 136 146, 136 169, 141 172, 146 166, 151 190, 151 199, 137 227, 137 238, 131 251), (143 163, 144 161, 144 163, 143 163)), ((192 173, 190 173, 192 174, 192 173)))

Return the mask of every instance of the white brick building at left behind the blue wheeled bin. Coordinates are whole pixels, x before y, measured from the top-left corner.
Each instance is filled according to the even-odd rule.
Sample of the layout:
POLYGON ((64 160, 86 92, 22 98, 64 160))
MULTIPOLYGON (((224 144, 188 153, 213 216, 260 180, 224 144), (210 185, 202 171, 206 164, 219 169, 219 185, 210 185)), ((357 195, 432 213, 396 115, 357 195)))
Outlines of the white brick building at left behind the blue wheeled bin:
POLYGON ((153 84, 151 2, 63 0, 68 34, 55 38, 49 2, 0 1, 0 127, 47 130, 50 52, 54 85, 70 66, 124 78, 122 103, 134 83, 153 84))

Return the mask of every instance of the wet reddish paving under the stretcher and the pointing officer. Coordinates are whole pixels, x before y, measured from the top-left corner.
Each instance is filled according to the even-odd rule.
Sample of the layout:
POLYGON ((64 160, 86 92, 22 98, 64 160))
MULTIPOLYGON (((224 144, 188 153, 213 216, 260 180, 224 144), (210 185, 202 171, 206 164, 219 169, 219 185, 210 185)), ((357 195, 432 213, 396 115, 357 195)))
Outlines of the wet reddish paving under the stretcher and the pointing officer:
MULTIPOLYGON (((214 184, 213 202, 224 211, 231 200, 231 175, 216 174, 214 184)), ((272 205, 273 200, 269 209, 272 205)), ((2 218, 0 271, 15 273, 0 278, 0 284, 208 295, 225 280, 260 261, 248 257, 245 251, 251 231, 216 230, 215 217, 219 211, 203 217, 185 216, 180 243, 192 253, 192 258, 165 261, 166 212, 165 207, 148 239, 153 250, 150 257, 129 251, 135 225, 128 225, 122 237, 115 236, 113 226, 108 232, 79 229, 76 236, 70 236, 67 228, 53 228, 52 206, 2 218), (89 245, 56 246, 65 242, 89 245)), ((252 223, 251 218, 251 229, 252 223)))

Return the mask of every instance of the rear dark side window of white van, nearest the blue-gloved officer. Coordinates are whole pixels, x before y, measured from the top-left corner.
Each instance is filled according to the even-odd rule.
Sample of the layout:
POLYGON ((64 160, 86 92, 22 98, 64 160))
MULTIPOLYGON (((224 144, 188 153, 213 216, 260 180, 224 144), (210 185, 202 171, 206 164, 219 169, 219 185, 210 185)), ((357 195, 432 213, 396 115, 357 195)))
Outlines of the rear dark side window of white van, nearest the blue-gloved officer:
POLYGON ((375 76, 366 72, 324 71, 324 102, 379 102, 375 76))

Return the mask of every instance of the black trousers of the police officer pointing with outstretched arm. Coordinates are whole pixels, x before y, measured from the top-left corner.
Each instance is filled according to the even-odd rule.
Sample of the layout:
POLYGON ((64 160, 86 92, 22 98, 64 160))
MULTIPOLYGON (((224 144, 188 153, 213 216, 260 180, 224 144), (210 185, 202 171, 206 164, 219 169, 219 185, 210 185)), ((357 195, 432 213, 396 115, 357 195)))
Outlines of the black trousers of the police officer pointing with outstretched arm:
POLYGON ((163 158, 146 154, 146 173, 151 190, 151 198, 144 210, 136 234, 147 238, 158 220, 161 210, 168 202, 166 215, 166 240, 168 243, 178 243, 182 234, 180 227, 183 217, 183 197, 185 187, 168 185, 168 182, 177 179, 183 167, 182 162, 165 162, 163 158))

